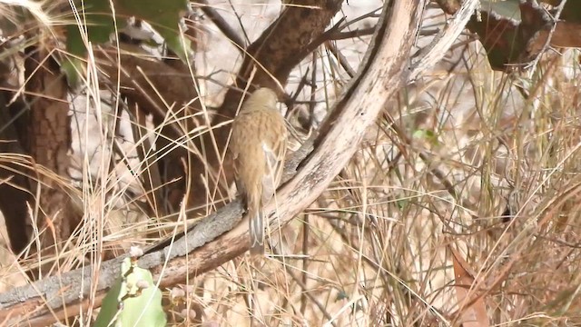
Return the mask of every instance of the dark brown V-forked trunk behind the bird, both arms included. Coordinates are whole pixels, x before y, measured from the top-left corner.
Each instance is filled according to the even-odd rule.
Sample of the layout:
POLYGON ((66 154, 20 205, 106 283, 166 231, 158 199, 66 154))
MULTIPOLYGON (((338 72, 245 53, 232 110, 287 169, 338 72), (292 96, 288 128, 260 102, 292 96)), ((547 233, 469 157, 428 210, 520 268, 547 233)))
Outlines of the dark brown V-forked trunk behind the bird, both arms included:
MULTIPOLYGON (((108 58, 103 69, 113 83, 117 81, 119 69, 118 80, 122 86, 120 92, 139 104, 140 109, 153 114, 156 124, 163 124, 166 115, 174 115, 185 122, 182 126, 170 124, 163 128, 164 138, 156 144, 156 148, 162 149, 170 143, 168 140, 178 140, 194 127, 217 126, 233 118, 241 101, 240 89, 245 87, 254 67, 257 71, 252 84, 273 89, 279 88, 278 83, 286 84, 291 69, 309 54, 311 41, 324 32, 330 19, 339 12, 341 4, 341 0, 303 0, 295 2, 297 6, 287 7, 245 50, 236 82, 225 95, 222 106, 218 108, 218 114, 214 115, 212 121, 211 115, 207 113, 199 115, 201 118, 198 121, 184 119, 188 114, 202 111, 187 67, 175 69, 168 64, 131 54, 120 54, 121 64, 117 65, 117 54, 114 50, 109 50, 108 55, 100 57, 108 58), (181 111, 184 104, 188 104, 187 110, 181 111), (172 106, 171 112, 168 106, 172 106)), ((196 136, 190 146, 190 149, 196 149, 196 153, 178 147, 169 154, 162 154, 165 156, 161 169, 166 174, 164 182, 178 181, 167 186, 168 202, 173 210, 182 202, 187 189, 186 182, 190 183, 187 206, 202 208, 197 213, 207 214, 206 205, 215 194, 218 194, 218 198, 226 197, 232 171, 228 158, 222 163, 222 157, 230 129, 230 124, 227 124, 212 129, 210 133, 196 136), (185 170, 184 166, 187 166, 185 170)))

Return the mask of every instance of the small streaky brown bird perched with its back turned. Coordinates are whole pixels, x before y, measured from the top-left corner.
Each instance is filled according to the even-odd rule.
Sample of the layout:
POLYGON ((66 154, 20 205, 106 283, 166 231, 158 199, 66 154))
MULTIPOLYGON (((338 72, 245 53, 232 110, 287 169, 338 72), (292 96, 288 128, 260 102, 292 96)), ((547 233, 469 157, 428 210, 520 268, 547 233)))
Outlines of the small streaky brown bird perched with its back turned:
POLYGON ((281 183, 287 150, 287 128, 269 88, 256 91, 242 104, 232 124, 230 152, 238 192, 246 201, 251 254, 264 253, 262 208, 281 183))

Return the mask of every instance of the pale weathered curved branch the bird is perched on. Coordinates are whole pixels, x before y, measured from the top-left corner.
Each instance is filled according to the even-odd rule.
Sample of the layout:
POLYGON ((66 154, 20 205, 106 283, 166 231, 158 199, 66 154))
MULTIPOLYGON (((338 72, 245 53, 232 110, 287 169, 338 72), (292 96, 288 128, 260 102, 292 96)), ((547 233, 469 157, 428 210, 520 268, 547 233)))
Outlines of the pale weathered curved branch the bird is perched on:
MULTIPOLYGON (((316 142, 318 146, 312 153, 299 151, 295 155, 293 165, 298 166, 298 172, 277 193, 278 207, 271 203, 265 212, 271 213, 270 219, 281 224, 304 210, 322 193, 337 173, 349 162, 352 154, 359 148, 359 142, 366 130, 375 123, 377 115, 385 110, 399 87, 407 80, 409 51, 412 44, 409 40, 419 30, 422 8, 426 1, 393 0, 386 1, 374 41, 370 45, 364 64, 359 68, 346 92, 335 104, 337 111, 335 124, 326 134, 320 134, 316 142), (301 160, 306 157, 305 160, 301 160), (296 159, 299 160, 296 160, 296 159)), ((308 146, 308 145, 307 145, 308 146)), ((161 278, 160 287, 167 287, 176 282, 183 282, 188 276, 207 272, 231 258, 240 255, 248 249, 248 230, 245 224, 236 223, 241 219, 241 203, 234 202, 212 214, 203 223, 195 226, 185 237, 163 248, 147 253, 139 265, 150 268, 154 278, 161 278), (230 232, 220 231, 222 225, 234 226, 230 232), (214 239, 215 238, 215 239, 214 239), (213 240, 213 241, 212 241, 213 240), (193 251, 195 249, 195 251, 193 251), (163 266, 168 260, 167 265, 163 266)), ((105 289, 111 285, 119 273, 121 259, 104 263, 100 271, 98 292, 93 299, 99 303, 105 289)), ((45 304, 53 309, 60 308, 65 303, 73 303, 85 307, 88 302, 78 302, 79 294, 87 298, 91 290, 91 269, 85 268, 64 273, 58 277, 38 282, 36 288, 18 288, 11 292, 0 294, 0 320, 8 314, 18 315, 32 312, 36 305, 45 304), (58 285, 74 285, 73 288, 60 290, 58 285), (84 288, 81 289, 81 285, 84 288), (38 296, 40 290, 43 302, 38 296)), ((27 321, 30 325, 46 325, 52 315, 44 315, 44 311, 34 312, 27 321), (34 318, 37 317, 37 318, 34 318)), ((61 314, 56 312, 57 315, 61 314)))

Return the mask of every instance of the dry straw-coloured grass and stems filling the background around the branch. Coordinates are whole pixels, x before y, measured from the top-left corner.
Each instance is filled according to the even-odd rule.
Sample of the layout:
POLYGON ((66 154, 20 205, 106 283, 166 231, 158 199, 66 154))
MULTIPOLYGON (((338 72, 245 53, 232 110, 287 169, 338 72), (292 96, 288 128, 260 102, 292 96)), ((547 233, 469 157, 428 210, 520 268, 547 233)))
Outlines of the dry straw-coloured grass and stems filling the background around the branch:
MULTIPOLYGON (((348 21, 356 18, 357 10, 350 7, 357 8, 354 3, 343 4, 348 21)), ((278 15, 273 6, 219 8, 227 13, 224 16, 231 25, 236 24, 234 9, 244 13, 241 21, 251 26, 246 32, 254 40, 278 15), (253 25, 253 20, 260 23, 253 25)), ((423 31, 441 28, 442 15, 437 8, 427 11, 423 31)), ((375 24, 372 17, 355 26, 364 29, 375 24)), ((222 64, 226 58, 230 63, 240 61, 240 54, 220 50, 231 49, 231 45, 222 34, 210 33, 210 25, 199 25, 203 43, 198 49, 207 54, 199 54, 195 74, 208 76, 214 69, 238 71, 241 63, 214 67, 208 60, 216 55, 222 64)), ((419 37, 412 53, 428 44, 429 35, 419 37)), ((302 103, 295 104, 288 116, 303 140, 316 133, 321 116, 347 89, 350 73, 357 70, 351 67, 358 67, 369 40, 370 35, 363 35, 322 43, 300 64, 292 64, 291 73, 277 73, 288 75, 288 94, 301 87, 298 100, 302 103)), ((211 271, 190 269, 191 278, 180 285, 162 282, 165 295, 179 294, 168 305, 169 320, 175 325, 204 326, 245 326, 252 321, 269 326, 486 326, 485 321, 498 326, 581 324, 578 58, 573 50, 563 55, 547 53, 534 70, 499 73, 490 69, 477 41, 469 35, 459 38, 436 67, 403 87, 385 105, 326 191, 291 223, 280 230, 273 228, 271 245, 276 255, 251 258, 240 254, 241 248, 231 252, 236 254, 233 259, 211 271), (486 319, 474 318, 482 308, 486 319), (186 322, 184 312, 190 312, 186 322)), ((1 53, 0 59, 4 59, 1 53)), ((222 84, 200 78, 195 86, 195 93, 203 95, 202 104, 225 105, 228 100, 224 98, 238 96, 223 89, 223 84, 234 80, 230 74, 218 73, 212 78, 222 79, 222 84)), ((100 92, 91 81, 85 86, 94 94, 100 92)), ((18 87, 13 85, 9 91, 18 87)), ((101 264, 103 259, 125 253, 129 245, 157 243, 174 229, 199 219, 185 213, 192 208, 184 203, 177 203, 184 212, 178 210, 176 219, 143 209, 144 194, 155 183, 143 182, 133 172, 141 172, 156 160, 153 154, 139 152, 140 144, 163 144, 155 139, 162 136, 153 133, 152 127, 160 117, 157 122, 144 116, 130 119, 126 113, 138 113, 135 107, 125 106, 122 116, 104 105, 107 100, 103 95, 94 97, 93 103, 86 98, 74 103, 81 107, 75 108, 76 152, 67 173, 76 183, 36 169, 36 174, 52 183, 62 183, 83 213, 84 227, 62 247, 59 260, 54 255, 42 258, 44 265, 58 263, 53 269, 59 273, 83 267, 83 263, 101 264), (119 136, 131 131, 132 125, 141 127, 143 135, 133 129, 127 139, 119 136)), ((117 100, 123 99, 113 97, 110 103, 117 100)), ((220 111, 223 107, 212 110, 192 115, 224 113, 220 111)), ((162 126, 174 119, 165 118, 162 126)), ((226 114, 218 122, 226 124, 229 119, 226 114)), ((323 130, 329 128, 325 123, 322 126, 323 130)), ((188 131, 192 133, 184 137, 209 131, 202 127, 192 130, 199 133, 188 131)), ((186 140, 184 144, 195 142, 186 140)), ((29 157, 17 155, 18 151, 5 152, 0 154, 3 167, 10 166, 8 163, 32 167, 29 157)), ((158 149, 156 155, 160 153, 158 149)), ((216 158, 212 160, 216 162, 216 158)), ((229 167, 219 165, 216 170, 223 173, 229 167)), ((153 178, 155 172, 140 176, 153 178)), ((0 183, 5 178, 0 175, 0 183)), ((202 209, 194 208, 203 213, 200 215, 214 212, 221 202, 233 198, 232 190, 222 189, 225 193, 220 194, 212 187, 208 193, 190 194, 196 205, 203 199, 202 209)), ((36 205, 30 203, 32 217, 38 215, 36 205)), ((164 210, 171 212, 171 208, 164 210)), ((246 223, 237 227, 245 228, 246 223)), ((37 233, 33 231, 34 236, 37 233)), ((7 240, 5 234, 3 238, 7 240)), ((5 245, 0 253, 0 282, 5 291, 31 282, 25 270, 40 266, 38 257, 18 262, 8 249, 5 245)), ((216 257, 223 254, 212 249, 216 257)), ((171 279, 175 270, 166 268, 153 268, 154 275, 171 279)), ((94 293, 97 296, 84 306, 69 307, 66 316, 73 318, 59 320, 67 325, 74 325, 75 319, 87 323, 87 317, 94 314, 92 302, 100 302, 103 295, 96 289, 94 293)), ((18 319, 4 317, 12 325, 28 323, 25 314, 18 319)))

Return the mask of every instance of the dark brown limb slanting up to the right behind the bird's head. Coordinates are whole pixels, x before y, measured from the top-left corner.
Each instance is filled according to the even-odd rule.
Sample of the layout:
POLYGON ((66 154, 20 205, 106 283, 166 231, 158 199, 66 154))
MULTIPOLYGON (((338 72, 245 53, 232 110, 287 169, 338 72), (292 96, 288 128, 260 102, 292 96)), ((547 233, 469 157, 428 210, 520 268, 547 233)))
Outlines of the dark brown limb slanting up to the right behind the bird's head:
MULTIPOLYGON (((279 83, 285 85, 292 68, 300 64, 302 59, 309 54, 310 42, 323 34, 331 18, 339 12, 342 1, 303 0, 295 1, 293 4, 296 6, 287 6, 279 18, 246 49, 236 82, 232 85, 234 87, 230 88, 224 96, 222 106, 217 110, 219 114, 215 116, 212 125, 220 125, 234 117, 242 97, 239 90, 246 87, 254 68, 256 72, 251 81, 250 90, 257 85, 274 90, 279 89, 279 83)), ((192 164, 189 173, 192 184, 192 191, 188 194, 190 206, 205 205, 206 190, 210 193, 225 193, 224 186, 231 183, 233 171, 229 158, 226 157, 222 163, 222 154, 228 142, 230 130, 230 124, 223 125, 213 129, 213 134, 202 135, 198 139, 205 157, 204 164, 198 159, 192 164), (220 176, 217 172, 208 172, 208 167, 215 170, 221 165, 223 169, 220 176), (204 180, 209 184, 202 183, 204 180)))

